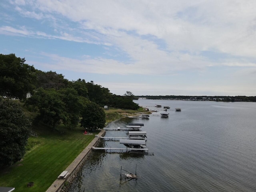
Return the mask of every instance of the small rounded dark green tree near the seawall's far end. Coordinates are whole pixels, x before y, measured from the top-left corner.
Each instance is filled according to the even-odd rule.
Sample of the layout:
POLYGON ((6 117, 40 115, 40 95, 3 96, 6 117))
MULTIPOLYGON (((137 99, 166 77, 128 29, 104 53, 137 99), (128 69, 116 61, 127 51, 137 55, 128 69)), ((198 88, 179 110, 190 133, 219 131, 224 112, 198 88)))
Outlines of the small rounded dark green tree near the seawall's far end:
POLYGON ((106 122, 106 114, 104 110, 96 103, 90 102, 86 105, 82 113, 81 126, 90 128, 104 128, 106 122))

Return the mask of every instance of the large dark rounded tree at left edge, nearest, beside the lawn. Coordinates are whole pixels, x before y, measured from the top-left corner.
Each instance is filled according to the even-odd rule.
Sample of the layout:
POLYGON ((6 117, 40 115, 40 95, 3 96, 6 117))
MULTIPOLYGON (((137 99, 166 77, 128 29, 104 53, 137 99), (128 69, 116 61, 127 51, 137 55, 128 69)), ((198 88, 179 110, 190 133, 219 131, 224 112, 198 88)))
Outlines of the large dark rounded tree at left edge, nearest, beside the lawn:
POLYGON ((30 120, 18 104, 0 101, 0 167, 22 159, 31 133, 30 120))

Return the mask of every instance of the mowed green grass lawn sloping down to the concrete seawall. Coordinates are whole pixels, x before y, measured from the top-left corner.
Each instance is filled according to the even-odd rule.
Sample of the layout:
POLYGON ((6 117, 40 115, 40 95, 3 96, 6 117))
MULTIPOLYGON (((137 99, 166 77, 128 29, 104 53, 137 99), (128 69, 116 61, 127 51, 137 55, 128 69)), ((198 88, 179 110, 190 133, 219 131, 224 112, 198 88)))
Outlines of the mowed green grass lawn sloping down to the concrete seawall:
POLYGON ((64 133, 51 132, 50 128, 37 129, 40 135, 29 138, 30 150, 23 160, 0 170, 0 186, 15 187, 15 192, 45 192, 98 134, 84 135, 84 129, 79 127, 74 130, 58 127, 64 133), (34 186, 28 188, 28 182, 34 182, 34 186))

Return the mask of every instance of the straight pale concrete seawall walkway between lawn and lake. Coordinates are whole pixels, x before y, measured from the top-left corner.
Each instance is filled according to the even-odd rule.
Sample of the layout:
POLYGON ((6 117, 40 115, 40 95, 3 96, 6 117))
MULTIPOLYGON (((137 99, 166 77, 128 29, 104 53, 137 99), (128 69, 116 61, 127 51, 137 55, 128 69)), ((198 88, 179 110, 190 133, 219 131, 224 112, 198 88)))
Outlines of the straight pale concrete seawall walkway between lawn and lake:
POLYGON ((92 151, 92 147, 96 146, 100 140, 100 136, 104 136, 105 130, 101 130, 98 134, 99 137, 95 137, 86 148, 74 159, 74 161, 65 169, 70 174, 66 179, 56 179, 52 185, 46 190, 46 192, 61 192, 63 191, 63 187, 66 186, 66 182, 73 180, 76 176, 76 172, 80 169, 88 154, 92 151))

